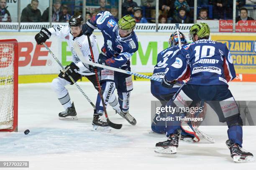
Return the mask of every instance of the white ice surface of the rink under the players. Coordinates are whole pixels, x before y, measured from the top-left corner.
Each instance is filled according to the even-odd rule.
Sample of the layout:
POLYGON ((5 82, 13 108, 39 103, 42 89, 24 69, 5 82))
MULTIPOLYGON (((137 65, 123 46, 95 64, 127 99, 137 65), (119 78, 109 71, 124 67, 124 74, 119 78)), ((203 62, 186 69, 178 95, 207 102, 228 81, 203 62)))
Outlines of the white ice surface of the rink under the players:
MULTIPOLYGON (((92 101, 92 84, 79 83, 92 101)), ((230 83, 236 100, 255 100, 256 83, 230 83)), ((214 144, 180 142, 176 155, 154 153, 164 134, 151 131, 150 82, 134 82, 130 113, 137 125, 128 124, 108 107, 110 120, 122 129, 91 130, 93 109, 75 86, 68 86, 78 121, 58 119, 63 110, 49 83, 19 84, 18 133, 0 133, 0 160, 29 161, 33 170, 253 170, 255 162, 234 163, 225 145, 227 127, 200 127, 215 139, 214 144), (23 132, 29 129, 30 133, 23 132)), ((256 154, 256 127, 243 127, 243 148, 256 154)), ((2 170, 3 168, 0 168, 2 170)), ((8 170, 19 168, 8 168, 8 170)), ((27 168, 21 168, 27 169, 27 168)))

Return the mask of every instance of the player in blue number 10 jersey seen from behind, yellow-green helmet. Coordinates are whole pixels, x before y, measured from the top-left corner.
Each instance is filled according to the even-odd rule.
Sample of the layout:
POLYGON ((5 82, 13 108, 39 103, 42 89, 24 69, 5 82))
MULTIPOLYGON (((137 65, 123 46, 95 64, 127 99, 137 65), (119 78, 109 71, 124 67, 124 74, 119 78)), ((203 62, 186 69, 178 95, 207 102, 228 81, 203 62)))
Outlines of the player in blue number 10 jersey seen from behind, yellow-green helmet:
MULTIPOLYGON (((182 86, 166 106, 186 107, 192 101, 205 101, 214 109, 220 122, 228 124, 226 145, 235 162, 250 162, 253 154, 242 149, 242 119, 228 82, 236 77, 233 59, 228 48, 216 41, 209 40, 210 28, 206 23, 192 25, 189 30, 189 43, 174 56, 176 58, 165 74, 163 86, 170 87, 190 72, 189 81, 182 86), (180 100, 182 99, 182 100, 180 100), (232 105, 225 109, 227 105, 232 105)), ((177 116, 179 112, 173 114, 177 116)), ((167 140, 156 143, 157 153, 173 154, 177 152, 180 122, 166 124, 167 140)))

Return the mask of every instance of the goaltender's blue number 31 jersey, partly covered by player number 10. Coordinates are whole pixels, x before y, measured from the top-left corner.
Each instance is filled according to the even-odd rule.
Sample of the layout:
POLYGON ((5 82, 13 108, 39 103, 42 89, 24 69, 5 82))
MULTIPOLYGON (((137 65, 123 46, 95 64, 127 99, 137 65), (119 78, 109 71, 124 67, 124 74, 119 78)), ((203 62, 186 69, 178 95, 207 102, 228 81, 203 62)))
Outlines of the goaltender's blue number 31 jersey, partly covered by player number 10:
MULTIPOLYGON (((173 62, 172 57, 175 56, 175 54, 179 51, 179 46, 172 46, 169 48, 166 48, 164 51, 161 51, 157 55, 157 64, 154 67, 154 72, 152 77, 163 79, 164 75, 168 71, 172 71, 171 65, 173 62)), ((180 84, 183 84, 183 82, 179 82, 180 84)), ((162 94, 171 94, 176 93, 179 89, 179 86, 174 85, 173 88, 167 88, 165 86, 161 85, 161 82, 159 81, 153 81, 151 80, 151 94, 155 95, 162 95, 162 94)))

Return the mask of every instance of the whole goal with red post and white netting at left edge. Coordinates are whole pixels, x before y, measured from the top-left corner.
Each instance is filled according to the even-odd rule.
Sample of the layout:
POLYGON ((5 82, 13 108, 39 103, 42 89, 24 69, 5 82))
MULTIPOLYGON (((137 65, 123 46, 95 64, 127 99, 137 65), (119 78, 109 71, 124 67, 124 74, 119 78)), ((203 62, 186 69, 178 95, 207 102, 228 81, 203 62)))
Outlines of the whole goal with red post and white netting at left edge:
POLYGON ((18 42, 0 40, 0 132, 18 132, 18 42))

